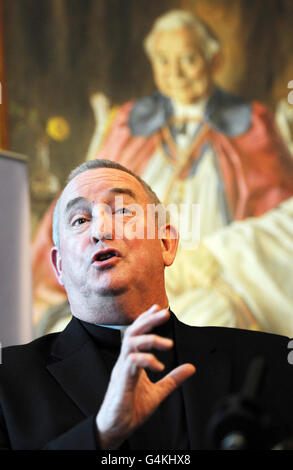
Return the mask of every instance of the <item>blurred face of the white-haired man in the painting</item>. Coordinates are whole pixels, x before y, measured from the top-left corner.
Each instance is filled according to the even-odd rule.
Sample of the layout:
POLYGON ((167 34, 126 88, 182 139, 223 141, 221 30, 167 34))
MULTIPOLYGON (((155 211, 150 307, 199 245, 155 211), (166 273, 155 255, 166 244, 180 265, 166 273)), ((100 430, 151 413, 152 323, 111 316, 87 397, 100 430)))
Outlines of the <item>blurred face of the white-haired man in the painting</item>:
POLYGON ((154 37, 152 67, 158 89, 174 101, 195 103, 212 87, 211 64, 189 29, 160 31, 154 37))

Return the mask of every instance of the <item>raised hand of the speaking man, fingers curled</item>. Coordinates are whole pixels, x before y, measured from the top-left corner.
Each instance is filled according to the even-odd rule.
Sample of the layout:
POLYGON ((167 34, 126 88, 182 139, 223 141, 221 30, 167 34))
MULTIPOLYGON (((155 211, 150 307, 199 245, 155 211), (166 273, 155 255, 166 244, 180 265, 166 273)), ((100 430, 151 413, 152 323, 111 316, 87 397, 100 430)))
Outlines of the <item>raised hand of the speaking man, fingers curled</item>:
POLYGON ((116 449, 157 409, 160 403, 195 372, 192 364, 173 369, 156 383, 146 368, 162 371, 164 364, 151 351, 167 350, 173 341, 148 334, 169 319, 168 310, 157 305, 141 314, 125 332, 119 358, 113 368, 108 389, 97 415, 102 448, 116 449))

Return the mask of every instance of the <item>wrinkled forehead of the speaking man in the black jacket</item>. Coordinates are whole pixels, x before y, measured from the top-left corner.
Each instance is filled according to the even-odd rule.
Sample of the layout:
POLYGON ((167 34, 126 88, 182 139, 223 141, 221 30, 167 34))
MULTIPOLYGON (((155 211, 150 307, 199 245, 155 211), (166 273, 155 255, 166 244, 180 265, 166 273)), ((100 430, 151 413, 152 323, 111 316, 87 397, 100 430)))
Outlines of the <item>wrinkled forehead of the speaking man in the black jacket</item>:
POLYGON ((67 184, 61 196, 61 211, 73 198, 83 197, 93 202, 112 194, 113 188, 131 190, 141 203, 147 200, 144 188, 129 173, 113 168, 95 168, 80 173, 67 184))

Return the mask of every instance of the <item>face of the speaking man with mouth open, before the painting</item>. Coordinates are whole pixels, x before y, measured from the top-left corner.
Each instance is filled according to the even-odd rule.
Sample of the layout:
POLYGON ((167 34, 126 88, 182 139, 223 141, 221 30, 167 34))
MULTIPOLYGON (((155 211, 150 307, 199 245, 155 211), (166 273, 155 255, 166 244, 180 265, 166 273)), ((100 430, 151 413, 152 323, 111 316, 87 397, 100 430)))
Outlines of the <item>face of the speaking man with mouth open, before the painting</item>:
POLYGON ((131 299, 132 291, 163 288, 162 241, 145 236, 149 203, 139 181, 116 169, 91 169, 67 185, 53 264, 72 307, 81 299, 90 308, 103 297, 131 299))

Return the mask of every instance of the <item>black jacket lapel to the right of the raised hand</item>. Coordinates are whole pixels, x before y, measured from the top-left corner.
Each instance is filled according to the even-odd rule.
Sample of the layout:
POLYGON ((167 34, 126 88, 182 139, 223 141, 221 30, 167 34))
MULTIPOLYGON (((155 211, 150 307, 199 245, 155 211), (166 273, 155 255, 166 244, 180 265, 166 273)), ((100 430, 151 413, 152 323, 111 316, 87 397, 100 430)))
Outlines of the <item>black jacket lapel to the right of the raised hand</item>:
POLYGON ((196 373, 182 385, 191 449, 206 447, 205 433, 213 407, 230 389, 231 361, 213 346, 208 331, 175 319, 178 362, 191 362, 196 367, 196 373))

